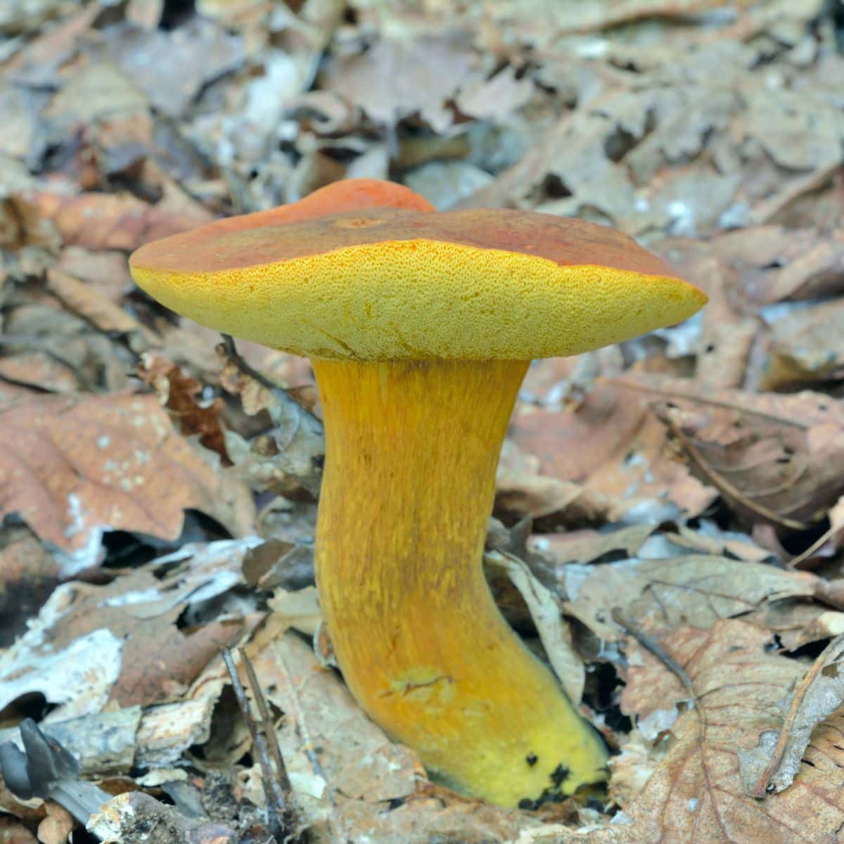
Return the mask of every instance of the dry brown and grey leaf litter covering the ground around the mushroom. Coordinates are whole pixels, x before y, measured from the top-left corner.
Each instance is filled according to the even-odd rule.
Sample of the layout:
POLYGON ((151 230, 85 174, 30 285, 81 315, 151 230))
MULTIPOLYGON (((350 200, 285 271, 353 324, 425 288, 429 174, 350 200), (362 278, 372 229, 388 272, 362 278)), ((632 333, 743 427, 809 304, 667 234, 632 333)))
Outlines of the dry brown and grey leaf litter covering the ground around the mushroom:
MULTIPOLYGON (((838 840, 842 32, 820 0, 7 3, 0 744, 34 717, 123 793, 99 839, 267 840, 240 647, 313 840, 838 840), (500 463, 490 583, 618 751, 605 793, 458 797, 362 715, 313 586, 309 365, 127 275, 353 176, 614 225, 710 296, 534 362, 500 463)), ((0 839, 73 825, 0 782, 0 839)))

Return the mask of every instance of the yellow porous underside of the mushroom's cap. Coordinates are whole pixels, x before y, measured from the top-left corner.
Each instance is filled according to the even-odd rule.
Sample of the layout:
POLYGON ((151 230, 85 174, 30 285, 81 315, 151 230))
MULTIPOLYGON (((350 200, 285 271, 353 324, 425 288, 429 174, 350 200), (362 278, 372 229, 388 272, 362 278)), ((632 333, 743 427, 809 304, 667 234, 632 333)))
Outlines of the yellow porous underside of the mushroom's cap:
MULTIPOLYGON (((278 227, 279 236, 294 225, 303 224, 278 227)), ((160 258, 157 244, 143 247, 131 262, 133 278, 205 326, 274 349, 345 360, 579 354, 681 322, 706 302, 699 289, 670 275, 598 262, 561 265, 536 254, 429 239, 250 265, 250 235, 257 252, 268 251, 268 230, 231 235, 237 240, 230 268, 228 252, 214 252, 229 249, 225 242, 191 244, 208 253, 207 261, 175 248, 160 258)))

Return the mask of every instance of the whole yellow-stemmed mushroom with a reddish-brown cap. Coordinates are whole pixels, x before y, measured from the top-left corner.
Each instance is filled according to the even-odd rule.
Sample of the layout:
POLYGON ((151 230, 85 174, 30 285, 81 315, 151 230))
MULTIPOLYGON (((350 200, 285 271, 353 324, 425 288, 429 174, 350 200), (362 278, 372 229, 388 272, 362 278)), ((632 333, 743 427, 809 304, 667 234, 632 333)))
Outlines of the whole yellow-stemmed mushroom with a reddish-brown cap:
MULTIPOLYGON (((320 208, 348 190, 323 189, 320 208)), ((326 432, 317 585, 344 679, 441 782, 535 806, 602 780, 606 751, 484 581, 522 376, 533 358, 680 322, 706 295, 603 226, 432 214, 399 207, 414 203, 398 190, 381 207, 287 222, 306 199, 205 225, 130 266, 177 313, 311 358, 326 432)))

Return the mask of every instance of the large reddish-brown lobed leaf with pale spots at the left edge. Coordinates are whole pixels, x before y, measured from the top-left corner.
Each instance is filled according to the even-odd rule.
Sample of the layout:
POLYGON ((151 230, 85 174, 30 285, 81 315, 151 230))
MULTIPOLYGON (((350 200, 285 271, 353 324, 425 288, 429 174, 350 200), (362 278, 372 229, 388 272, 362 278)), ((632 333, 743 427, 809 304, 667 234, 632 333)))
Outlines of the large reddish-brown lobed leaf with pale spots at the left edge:
POLYGON ((235 535, 254 515, 246 489, 176 434, 153 396, 35 396, 0 410, 0 515, 91 565, 105 531, 176 539, 184 510, 235 535))

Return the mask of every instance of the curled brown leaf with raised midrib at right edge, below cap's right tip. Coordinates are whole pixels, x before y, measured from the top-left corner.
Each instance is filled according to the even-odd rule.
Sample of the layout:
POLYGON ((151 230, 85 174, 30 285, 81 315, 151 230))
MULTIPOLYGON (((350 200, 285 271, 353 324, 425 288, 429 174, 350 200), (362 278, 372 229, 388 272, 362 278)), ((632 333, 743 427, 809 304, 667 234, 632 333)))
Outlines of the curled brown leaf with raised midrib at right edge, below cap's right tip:
POLYGON ((659 402, 693 473, 751 523, 800 530, 844 493, 844 403, 816 392, 706 392, 647 376, 614 383, 659 402))

